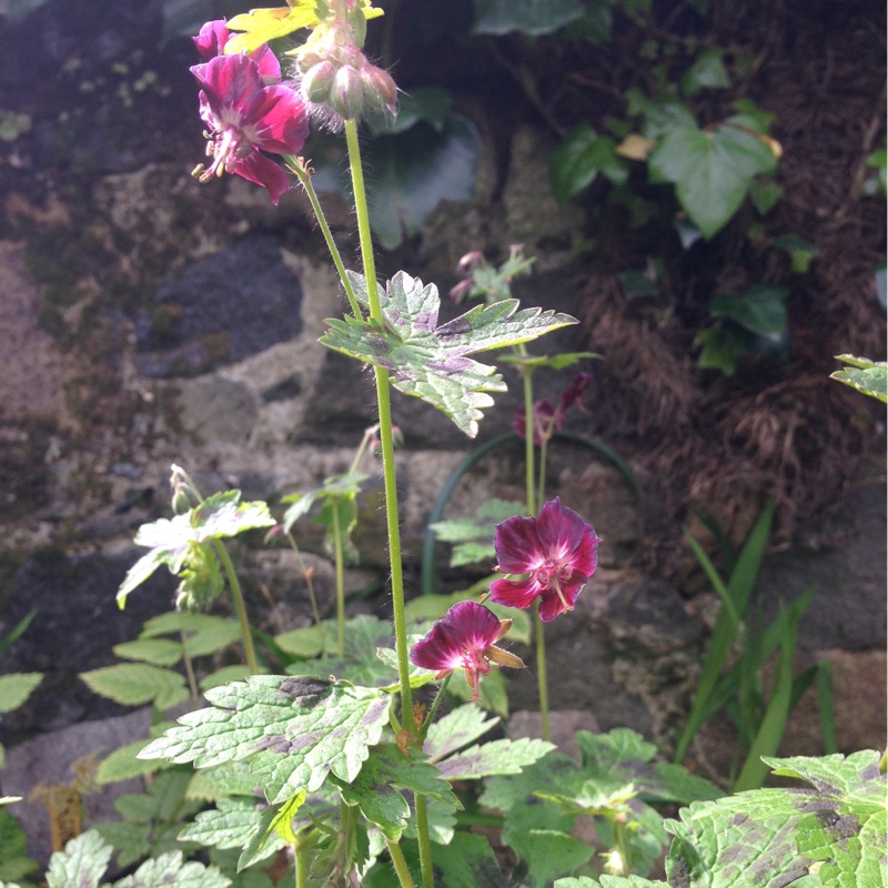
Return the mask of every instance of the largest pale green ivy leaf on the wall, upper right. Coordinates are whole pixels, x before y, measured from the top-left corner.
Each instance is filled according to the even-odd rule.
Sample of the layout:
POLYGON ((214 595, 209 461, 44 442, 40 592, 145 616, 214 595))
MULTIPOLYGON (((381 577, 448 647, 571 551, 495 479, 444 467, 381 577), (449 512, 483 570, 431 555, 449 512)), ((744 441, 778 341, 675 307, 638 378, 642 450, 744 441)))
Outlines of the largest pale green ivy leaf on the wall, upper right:
POLYGON ((650 152, 650 181, 675 184, 690 221, 712 238, 737 212, 755 176, 775 171, 777 159, 763 139, 728 123, 675 127, 650 152))

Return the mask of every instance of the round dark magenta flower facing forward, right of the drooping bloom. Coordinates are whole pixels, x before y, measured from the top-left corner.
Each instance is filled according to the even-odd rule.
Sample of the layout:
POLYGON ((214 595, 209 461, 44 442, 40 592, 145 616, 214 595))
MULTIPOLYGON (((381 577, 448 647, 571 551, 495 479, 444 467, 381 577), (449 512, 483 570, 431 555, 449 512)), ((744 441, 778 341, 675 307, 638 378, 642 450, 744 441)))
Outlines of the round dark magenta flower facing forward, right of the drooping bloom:
POLYGON ((529 607, 539 598, 544 623, 573 610, 577 596, 598 565, 595 528, 557 497, 536 518, 516 515, 496 525, 496 569, 525 575, 523 579, 495 579, 491 601, 508 607, 529 607))

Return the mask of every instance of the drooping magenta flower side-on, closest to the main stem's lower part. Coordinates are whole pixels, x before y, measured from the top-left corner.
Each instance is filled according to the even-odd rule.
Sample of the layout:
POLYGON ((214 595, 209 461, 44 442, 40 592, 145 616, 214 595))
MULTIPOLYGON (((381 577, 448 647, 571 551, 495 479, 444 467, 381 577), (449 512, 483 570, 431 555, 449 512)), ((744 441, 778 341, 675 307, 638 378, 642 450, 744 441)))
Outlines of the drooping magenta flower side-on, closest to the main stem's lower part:
POLYGON ((496 646, 512 626, 511 619, 498 619, 477 602, 460 602, 442 619, 432 625, 428 634, 413 646, 410 659, 415 666, 434 669, 443 678, 454 669, 464 669, 472 686, 472 699, 478 698, 478 676, 491 672, 491 663, 524 668, 514 654, 496 646))

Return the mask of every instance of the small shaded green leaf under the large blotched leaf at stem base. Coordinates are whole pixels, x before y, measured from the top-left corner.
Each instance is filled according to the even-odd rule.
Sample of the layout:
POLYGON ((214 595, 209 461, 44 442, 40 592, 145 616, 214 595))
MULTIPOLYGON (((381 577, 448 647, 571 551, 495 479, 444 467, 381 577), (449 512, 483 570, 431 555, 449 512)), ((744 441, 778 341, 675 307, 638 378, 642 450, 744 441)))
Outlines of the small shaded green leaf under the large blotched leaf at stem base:
POLYGON ((334 783, 345 803, 357 805, 364 817, 391 841, 401 838, 410 818, 410 805, 395 787, 431 796, 454 808, 463 807, 450 784, 422 753, 413 749, 404 755, 395 744, 372 748, 361 773, 351 783, 334 783))

